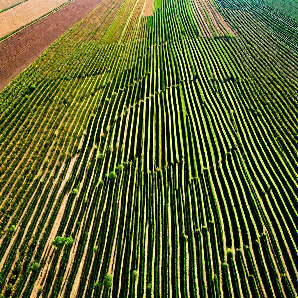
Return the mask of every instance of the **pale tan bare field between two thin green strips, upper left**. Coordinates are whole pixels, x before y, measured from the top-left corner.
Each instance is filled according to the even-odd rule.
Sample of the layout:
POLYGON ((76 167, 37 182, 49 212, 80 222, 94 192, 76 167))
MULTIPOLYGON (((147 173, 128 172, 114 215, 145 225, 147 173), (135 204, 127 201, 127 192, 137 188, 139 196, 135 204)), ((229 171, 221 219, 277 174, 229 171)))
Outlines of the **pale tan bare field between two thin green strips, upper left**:
POLYGON ((28 0, 1 13, 0 37, 46 15, 69 0, 28 0))

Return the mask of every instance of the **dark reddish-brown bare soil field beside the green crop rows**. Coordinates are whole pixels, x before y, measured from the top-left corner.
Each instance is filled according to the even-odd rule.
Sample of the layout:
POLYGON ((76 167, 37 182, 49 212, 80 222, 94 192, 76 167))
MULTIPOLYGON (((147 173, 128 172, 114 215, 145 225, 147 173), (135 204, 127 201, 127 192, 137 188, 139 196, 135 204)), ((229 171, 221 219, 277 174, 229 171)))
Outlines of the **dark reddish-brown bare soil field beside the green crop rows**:
POLYGON ((101 0, 75 0, 0 43, 0 90, 101 0))

